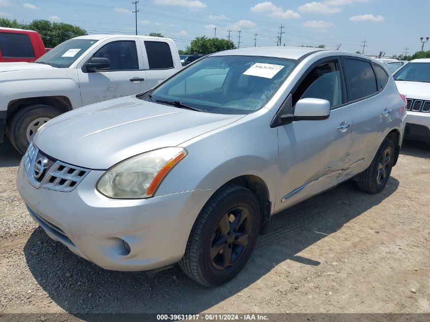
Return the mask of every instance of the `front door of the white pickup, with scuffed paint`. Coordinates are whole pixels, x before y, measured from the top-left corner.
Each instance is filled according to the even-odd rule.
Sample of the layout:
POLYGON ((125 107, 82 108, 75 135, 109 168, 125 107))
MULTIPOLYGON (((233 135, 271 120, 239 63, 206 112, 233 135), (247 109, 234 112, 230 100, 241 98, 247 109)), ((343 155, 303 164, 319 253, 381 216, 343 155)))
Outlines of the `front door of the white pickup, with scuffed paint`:
POLYGON ((106 101, 145 92, 146 72, 140 53, 140 43, 115 40, 104 44, 92 57, 109 59, 108 70, 94 73, 78 69, 82 105, 106 101))

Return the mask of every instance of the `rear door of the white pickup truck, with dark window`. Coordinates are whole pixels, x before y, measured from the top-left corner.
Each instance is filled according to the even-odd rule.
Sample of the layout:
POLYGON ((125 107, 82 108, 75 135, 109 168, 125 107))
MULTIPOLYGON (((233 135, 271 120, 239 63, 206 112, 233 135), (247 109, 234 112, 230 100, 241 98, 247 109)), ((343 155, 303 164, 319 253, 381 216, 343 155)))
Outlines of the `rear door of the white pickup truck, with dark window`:
POLYGON ((175 54, 177 52, 175 46, 170 41, 140 39, 140 43, 144 54, 144 64, 147 74, 146 85, 148 89, 151 89, 181 69, 179 59, 174 59, 172 55, 173 52, 175 54))

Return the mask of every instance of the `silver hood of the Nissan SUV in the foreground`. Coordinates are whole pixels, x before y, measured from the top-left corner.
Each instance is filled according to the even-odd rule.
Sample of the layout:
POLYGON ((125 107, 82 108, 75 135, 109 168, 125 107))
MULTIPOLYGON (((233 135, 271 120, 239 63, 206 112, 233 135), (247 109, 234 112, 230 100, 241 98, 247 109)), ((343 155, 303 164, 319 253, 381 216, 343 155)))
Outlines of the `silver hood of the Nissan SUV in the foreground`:
POLYGON ((175 147, 243 116, 123 97, 56 117, 39 129, 34 143, 55 159, 90 169, 107 169, 140 153, 175 147))

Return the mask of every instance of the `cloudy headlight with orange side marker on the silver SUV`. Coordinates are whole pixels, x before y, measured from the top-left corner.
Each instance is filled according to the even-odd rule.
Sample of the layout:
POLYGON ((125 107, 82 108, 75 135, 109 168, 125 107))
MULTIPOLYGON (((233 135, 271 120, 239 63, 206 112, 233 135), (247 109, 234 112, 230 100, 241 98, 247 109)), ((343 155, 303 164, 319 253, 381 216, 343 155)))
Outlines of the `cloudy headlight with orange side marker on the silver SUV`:
POLYGON ((187 154, 184 148, 163 148, 139 154, 107 170, 97 190, 109 198, 152 197, 170 169, 187 154))

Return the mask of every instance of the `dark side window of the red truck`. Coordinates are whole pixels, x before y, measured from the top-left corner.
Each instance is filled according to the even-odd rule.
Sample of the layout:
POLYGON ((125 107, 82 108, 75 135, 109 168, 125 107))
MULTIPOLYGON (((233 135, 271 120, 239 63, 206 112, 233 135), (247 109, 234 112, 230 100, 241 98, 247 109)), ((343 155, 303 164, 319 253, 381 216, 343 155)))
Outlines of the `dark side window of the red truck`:
POLYGON ((0 50, 5 58, 34 58, 30 37, 25 34, 0 33, 0 50))

